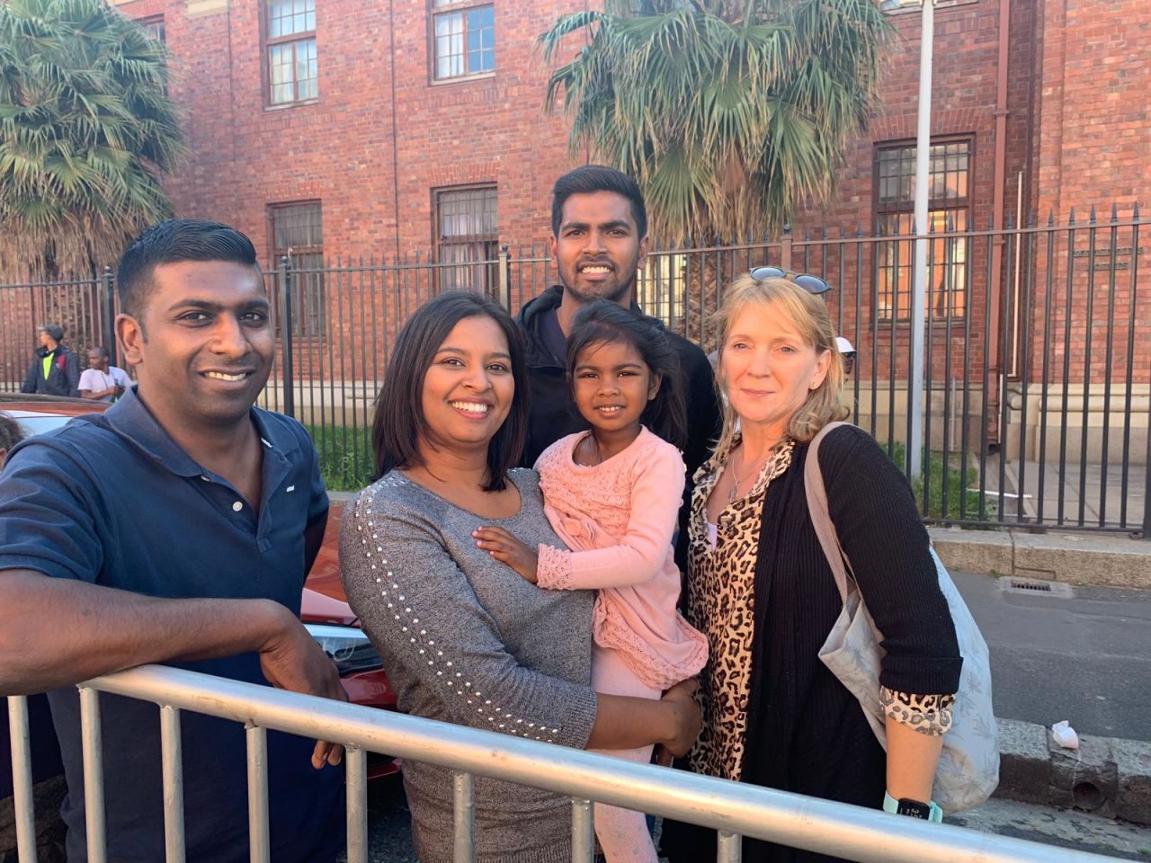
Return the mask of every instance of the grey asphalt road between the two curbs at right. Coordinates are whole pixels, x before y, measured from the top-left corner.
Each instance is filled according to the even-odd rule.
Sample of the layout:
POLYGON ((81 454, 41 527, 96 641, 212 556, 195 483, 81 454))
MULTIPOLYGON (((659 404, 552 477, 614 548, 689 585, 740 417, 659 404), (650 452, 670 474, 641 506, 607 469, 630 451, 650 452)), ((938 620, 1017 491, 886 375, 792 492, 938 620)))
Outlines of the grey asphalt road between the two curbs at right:
POLYGON ((1151 740, 1151 591, 954 578, 991 649, 996 716, 1151 740))

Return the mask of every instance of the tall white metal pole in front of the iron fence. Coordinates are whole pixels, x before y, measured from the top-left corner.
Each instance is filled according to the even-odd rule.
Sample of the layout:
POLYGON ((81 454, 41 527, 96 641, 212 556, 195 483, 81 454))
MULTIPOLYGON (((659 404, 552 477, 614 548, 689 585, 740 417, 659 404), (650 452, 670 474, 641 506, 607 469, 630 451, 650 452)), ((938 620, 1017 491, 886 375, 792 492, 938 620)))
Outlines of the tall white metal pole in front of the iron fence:
POLYGON ((923 0, 920 48, 920 99, 915 135, 915 270, 912 284, 912 354, 907 410, 910 414, 907 452, 912 476, 923 471, 923 329, 928 301, 928 165, 931 155, 931 53, 935 40, 935 0, 923 0))

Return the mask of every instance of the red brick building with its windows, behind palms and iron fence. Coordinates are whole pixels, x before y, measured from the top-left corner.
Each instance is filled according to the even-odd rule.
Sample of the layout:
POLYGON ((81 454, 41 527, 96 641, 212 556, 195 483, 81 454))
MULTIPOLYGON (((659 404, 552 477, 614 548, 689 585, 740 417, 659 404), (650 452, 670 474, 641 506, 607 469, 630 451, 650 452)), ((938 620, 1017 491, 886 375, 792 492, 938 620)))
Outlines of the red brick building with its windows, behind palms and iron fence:
MULTIPOLYGON (((171 94, 186 112, 192 151, 169 183, 177 212, 236 224, 262 259, 277 260, 289 249, 303 267, 321 255, 490 259, 500 243, 547 238, 550 185, 585 161, 569 155, 563 119, 543 113, 549 70, 536 37, 559 15, 593 3, 113 1, 162 32, 174 55, 171 94)), ((796 219, 796 242, 806 230, 841 236, 840 226, 847 236, 910 231, 920 7, 882 2, 898 38, 881 106, 846 154, 834 199, 796 219)), ((1112 203, 1126 226, 1136 201, 1151 203, 1151 3, 938 0, 935 17, 935 230, 1026 224, 1032 213, 1041 224, 1049 213, 1064 224, 1072 208, 1082 224, 1091 205, 1110 217, 1112 203)), ((1074 250, 1065 234, 937 240, 929 296, 935 380, 956 380, 945 371, 948 358, 953 366, 983 367, 991 379, 1038 380, 1044 361, 1058 371, 1065 357, 1074 358, 1070 381, 1089 372, 1102 380, 1110 369, 1098 346, 1111 327, 1130 330, 1111 352, 1111 367, 1130 360, 1131 381, 1145 394, 1151 336, 1130 324, 1151 319, 1151 292, 1141 291, 1133 306, 1131 287, 1122 282, 1151 272, 1146 234, 1135 251, 1128 227, 1114 243, 1100 231, 1093 249, 1083 246, 1082 230, 1074 250), (1049 266, 1044 243, 1052 242, 1049 266), (1118 310, 1108 323, 1097 320, 1103 299, 1087 293, 1098 288, 1089 287, 1088 274, 1112 247, 1116 266, 1108 277, 1118 274, 1120 283, 1105 285, 1118 310), (1049 276, 1074 288, 1074 298, 1054 297, 1049 310, 1049 276), (1019 303, 1024 278, 1034 281, 1027 307, 1019 303), (1095 354, 1087 351, 1092 339, 1095 354)), ((910 244, 871 242, 863 250, 825 253, 800 243, 794 254, 802 257, 792 262, 844 282, 839 322, 876 353, 872 361, 861 350, 859 374, 905 377, 910 244)), ((493 269, 480 269, 490 285, 493 269)), ((441 285, 474 283, 475 275, 444 269, 441 285)), ((673 297, 674 278, 662 278, 673 297)), ((546 265, 523 281, 523 290, 534 292, 546 265)), ((387 292, 368 293, 368 312, 383 314, 387 292)), ((391 293, 406 303, 413 292, 391 293)), ((395 303, 392 321, 404 312, 395 303)), ((1065 395, 1072 399, 1070 389, 1065 395)), ((1082 411, 1082 387, 1077 398, 1082 411)), ((991 400, 998 407, 993 391, 991 400)), ((1068 403, 1066 410, 1075 408, 1068 403)))

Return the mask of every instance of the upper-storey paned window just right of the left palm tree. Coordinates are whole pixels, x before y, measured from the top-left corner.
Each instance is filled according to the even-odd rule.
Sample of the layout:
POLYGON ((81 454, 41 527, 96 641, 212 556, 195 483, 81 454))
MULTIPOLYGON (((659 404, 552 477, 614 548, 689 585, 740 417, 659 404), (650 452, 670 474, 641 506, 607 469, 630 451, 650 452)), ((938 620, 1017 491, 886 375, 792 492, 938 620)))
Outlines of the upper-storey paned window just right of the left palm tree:
POLYGON ((267 0, 268 105, 319 97, 315 0, 267 0))

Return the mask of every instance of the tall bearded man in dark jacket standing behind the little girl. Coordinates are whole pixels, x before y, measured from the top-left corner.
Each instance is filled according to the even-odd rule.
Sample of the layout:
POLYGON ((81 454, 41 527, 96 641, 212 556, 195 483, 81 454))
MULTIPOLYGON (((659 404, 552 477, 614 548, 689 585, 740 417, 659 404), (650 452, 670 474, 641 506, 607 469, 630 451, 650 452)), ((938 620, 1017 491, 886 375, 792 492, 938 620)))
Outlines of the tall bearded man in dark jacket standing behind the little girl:
MULTIPOLYGON (((647 260, 647 208, 635 181, 613 168, 586 165, 552 188, 551 255, 561 284, 525 305, 519 322, 527 337, 531 418, 523 464, 532 466, 549 445, 588 427, 567 385, 565 357, 572 319, 586 304, 610 299, 637 312, 635 272, 647 260)), ((691 479, 719 433, 719 403, 711 365, 699 345, 668 333, 679 356, 687 402, 685 506, 677 559, 683 566, 691 479)))

